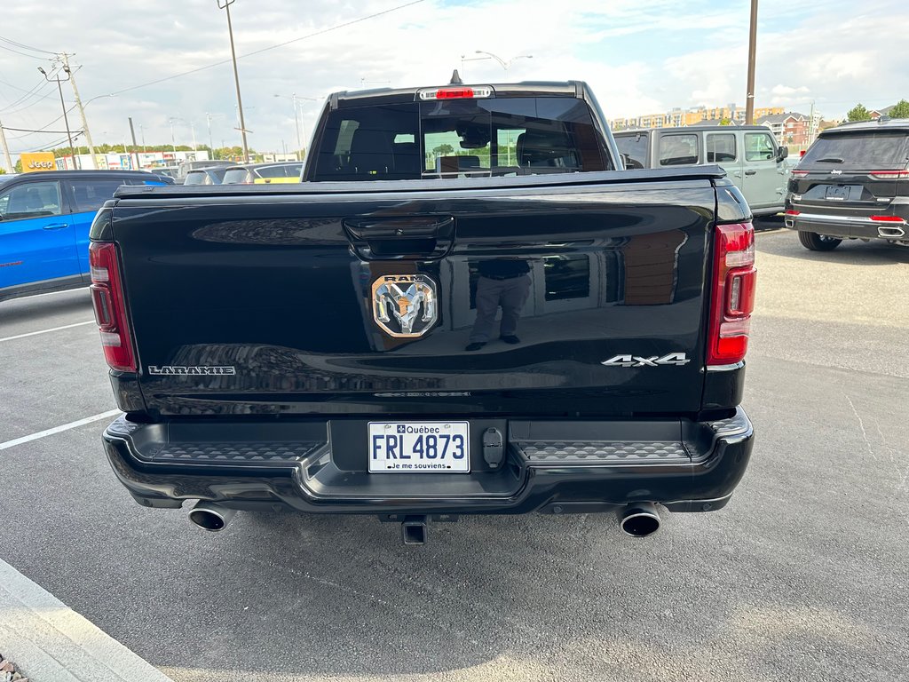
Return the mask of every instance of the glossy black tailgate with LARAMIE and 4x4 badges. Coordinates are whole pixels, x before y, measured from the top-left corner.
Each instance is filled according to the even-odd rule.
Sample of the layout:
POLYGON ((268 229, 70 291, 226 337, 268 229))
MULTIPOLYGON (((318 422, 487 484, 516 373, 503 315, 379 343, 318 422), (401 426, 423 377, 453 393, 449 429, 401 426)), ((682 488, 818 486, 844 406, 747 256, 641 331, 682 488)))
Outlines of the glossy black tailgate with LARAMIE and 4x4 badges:
POLYGON ((113 236, 147 410, 696 412, 712 178, 584 176, 124 191, 113 236), (489 324, 495 307, 508 319, 489 324))

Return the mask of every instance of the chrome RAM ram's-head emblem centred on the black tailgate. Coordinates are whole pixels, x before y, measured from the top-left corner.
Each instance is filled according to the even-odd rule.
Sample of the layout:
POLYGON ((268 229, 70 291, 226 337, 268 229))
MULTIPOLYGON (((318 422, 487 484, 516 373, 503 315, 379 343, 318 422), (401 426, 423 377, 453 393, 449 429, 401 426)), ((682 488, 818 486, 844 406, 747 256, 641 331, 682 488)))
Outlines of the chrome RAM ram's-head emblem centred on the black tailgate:
POLYGON ((435 282, 425 275, 385 275, 373 282, 373 318, 389 336, 423 336, 438 318, 435 282))

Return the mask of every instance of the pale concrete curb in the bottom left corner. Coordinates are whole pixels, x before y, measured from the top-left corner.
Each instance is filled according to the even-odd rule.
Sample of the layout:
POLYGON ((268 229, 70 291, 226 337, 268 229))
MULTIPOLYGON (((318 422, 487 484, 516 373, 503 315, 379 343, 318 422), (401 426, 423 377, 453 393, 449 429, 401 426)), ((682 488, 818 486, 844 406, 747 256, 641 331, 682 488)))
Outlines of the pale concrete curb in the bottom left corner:
POLYGON ((34 682, 173 682, 2 560, 0 651, 34 682))

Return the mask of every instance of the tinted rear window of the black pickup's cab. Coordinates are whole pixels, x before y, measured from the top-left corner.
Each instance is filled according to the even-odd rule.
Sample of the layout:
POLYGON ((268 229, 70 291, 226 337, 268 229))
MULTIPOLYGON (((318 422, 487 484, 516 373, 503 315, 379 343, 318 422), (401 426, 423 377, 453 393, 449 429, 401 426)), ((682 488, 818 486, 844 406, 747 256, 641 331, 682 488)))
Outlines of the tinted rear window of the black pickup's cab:
POLYGON ((610 168, 583 100, 502 97, 332 111, 314 179, 516 176, 610 168))

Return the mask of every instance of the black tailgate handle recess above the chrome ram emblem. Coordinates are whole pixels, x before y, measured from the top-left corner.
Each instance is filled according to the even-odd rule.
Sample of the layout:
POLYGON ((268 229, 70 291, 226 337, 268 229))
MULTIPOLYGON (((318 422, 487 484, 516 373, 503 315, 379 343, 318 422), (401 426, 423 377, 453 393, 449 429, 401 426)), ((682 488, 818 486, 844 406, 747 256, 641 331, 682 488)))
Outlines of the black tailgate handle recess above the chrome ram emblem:
POLYGON ((442 258, 454 244, 454 216, 357 217, 342 224, 364 260, 442 258))

